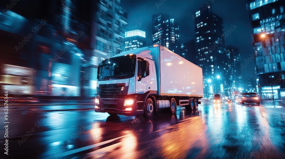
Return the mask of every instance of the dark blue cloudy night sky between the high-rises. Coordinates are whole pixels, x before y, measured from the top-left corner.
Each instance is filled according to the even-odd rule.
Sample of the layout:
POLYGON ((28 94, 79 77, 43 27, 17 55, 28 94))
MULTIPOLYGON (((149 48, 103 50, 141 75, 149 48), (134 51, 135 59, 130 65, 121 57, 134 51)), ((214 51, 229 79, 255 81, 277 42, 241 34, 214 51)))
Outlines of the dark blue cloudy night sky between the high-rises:
MULTIPOLYGON (((141 26, 137 29, 146 31, 146 45, 152 45, 152 14, 164 13, 174 18, 180 26, 181 41, 186 42, 194 38, 194 20, 192 14, 205 3, 212 2, 215 14, 223 18, 224 31, 237 26, 226 39, 226 45, 233 45, 240 49, 241 63, 253 53, 247 0, 121 0, 121 6, 128 12, 128 29, 132 29, 137 23, 141 26), (158 8, 156 3, 164 2, 158 8)), ((246 68, 242 69, 244 81, 246 77, 255 78, 254 60, 246 68)))

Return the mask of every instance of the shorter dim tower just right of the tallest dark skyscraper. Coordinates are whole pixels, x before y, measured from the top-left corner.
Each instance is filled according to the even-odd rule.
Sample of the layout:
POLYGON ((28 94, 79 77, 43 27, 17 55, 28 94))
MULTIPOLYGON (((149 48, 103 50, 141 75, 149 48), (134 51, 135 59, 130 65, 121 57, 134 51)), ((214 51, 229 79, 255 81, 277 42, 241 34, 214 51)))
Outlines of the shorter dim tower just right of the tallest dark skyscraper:
POLYGON ((232 92, 243 88, 243 76, 241 71, 241 56, 239 48, 235 46, 226 46, 227 57, 229 59, 229 78, 232 92))

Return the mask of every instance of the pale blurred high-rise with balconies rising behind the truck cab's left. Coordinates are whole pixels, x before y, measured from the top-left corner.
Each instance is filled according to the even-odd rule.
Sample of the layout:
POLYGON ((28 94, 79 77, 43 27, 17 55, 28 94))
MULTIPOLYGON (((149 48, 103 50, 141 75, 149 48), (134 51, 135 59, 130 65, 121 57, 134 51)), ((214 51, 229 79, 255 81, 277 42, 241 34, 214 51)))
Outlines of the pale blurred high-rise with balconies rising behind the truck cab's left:
POLYGON ((99 0, 94 30, 95 47, 92 64, 125 51, 125 32, 128 25, 127 11, 120 6, 120 0, 99 0))

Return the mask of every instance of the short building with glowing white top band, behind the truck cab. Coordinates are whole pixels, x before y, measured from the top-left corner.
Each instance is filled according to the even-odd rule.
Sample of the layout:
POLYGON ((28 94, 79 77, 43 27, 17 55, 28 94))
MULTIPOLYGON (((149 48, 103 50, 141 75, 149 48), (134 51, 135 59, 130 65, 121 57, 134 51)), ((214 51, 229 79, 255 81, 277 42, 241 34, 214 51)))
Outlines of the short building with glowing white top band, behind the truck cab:
POLYGON ((145 47, 145 32, 142 30, 131 30, 125 32, 126 51, 145 47))

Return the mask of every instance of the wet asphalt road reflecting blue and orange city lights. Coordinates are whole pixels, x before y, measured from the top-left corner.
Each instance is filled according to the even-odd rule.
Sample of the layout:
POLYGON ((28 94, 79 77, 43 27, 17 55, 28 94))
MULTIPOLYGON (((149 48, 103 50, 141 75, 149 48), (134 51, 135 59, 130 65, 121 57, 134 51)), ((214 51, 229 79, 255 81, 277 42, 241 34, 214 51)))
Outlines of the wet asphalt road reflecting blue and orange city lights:
POLYGON ((195 111, 178 106, 175 114, 162 110, 152 119, 49 108, 9 107, 9 155, 1 108, 1 157, 285 158, 285 107, 272 102, 202 101, 195 111))

